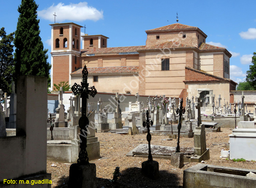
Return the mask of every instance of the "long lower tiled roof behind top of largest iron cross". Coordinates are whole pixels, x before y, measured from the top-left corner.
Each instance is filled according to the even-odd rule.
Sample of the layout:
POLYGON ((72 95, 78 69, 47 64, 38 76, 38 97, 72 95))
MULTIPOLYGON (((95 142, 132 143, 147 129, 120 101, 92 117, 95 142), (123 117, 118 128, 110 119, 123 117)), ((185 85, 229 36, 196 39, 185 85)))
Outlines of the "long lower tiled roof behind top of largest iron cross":
MULTIPOLYGON (((71 73, 71 75, 82 75, 83 68, 71 73)), ((88 74, 122 74, 122 73, 138 73, 139 66, 123 66, 123 67, 87 67, 88 74)))

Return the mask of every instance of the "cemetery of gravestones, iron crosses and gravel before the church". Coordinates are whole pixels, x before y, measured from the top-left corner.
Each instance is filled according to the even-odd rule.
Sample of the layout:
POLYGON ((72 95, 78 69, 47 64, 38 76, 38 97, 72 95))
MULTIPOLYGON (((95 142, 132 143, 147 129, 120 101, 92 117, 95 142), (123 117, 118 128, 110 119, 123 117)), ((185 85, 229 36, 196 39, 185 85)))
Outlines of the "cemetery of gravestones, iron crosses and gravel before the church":
POLYGON ((98 98, 96 88, 87 84, 87 74, 85 66, 83 81, 74 84, 72 92, 65 94, 60 87, 54 98, 50 95, 57 99, 50 100, 56 107, 52 112, 46 93, 20 87, 38 88, 41 77, 22 77, 18 94, 13 92, 10 98, 0 90, 6 101, 0 106, 1 161, 10 169, 2 179, 52 181, 42 187, 144 187, 148 181, 148 187, 255 185, 256 112, 255 107, 252 113, 246 111, 244 92, 237 103, 223 101, 223 107, 221 96, 215 105, 213 94, 197 95, 195 101, 194 96, 183 101, 138 93, 100 93, 98 98), (109 100, 104 100, 106 96, 109 100), (34 104, 40 108, 34 110, 34 104), (31 129, 34 118, 38 130, 31 129), (31 144, 34 140, 37 144, 31 144), (18 160, 10 156, 12 148, 21 156, 18 160), (14 172, 16 163, 24 165, 14 172), (115 184, 110 182, 114 170, 121 173, 115 184))

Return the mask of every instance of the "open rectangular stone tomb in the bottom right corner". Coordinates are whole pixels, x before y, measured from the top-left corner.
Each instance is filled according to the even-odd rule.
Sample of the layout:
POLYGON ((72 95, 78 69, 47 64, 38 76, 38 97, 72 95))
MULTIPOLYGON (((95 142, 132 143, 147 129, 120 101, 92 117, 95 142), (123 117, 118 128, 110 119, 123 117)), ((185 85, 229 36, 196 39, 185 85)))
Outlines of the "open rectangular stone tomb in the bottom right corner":
POLYGON ((183 171, 183 188, 248 188, 256 178, 246 174, 256 170, 197 164, 183 171))

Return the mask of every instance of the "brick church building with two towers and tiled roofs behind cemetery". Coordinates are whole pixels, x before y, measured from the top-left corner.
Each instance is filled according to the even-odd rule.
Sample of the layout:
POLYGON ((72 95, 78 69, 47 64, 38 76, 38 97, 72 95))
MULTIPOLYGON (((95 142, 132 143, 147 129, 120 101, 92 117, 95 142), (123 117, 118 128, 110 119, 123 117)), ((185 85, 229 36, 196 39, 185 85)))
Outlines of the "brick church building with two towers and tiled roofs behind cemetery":
POLYGON ((104 35, 80 36, 81 25, 50 25, 52 86, 80 84, 86 65, 88 83, 98 92, 176 98, 214 94, 229 102, 229 91, 236 90, 237 83, 229 79, 231 54, 206 44, 207 35, 198 27, 174 23, 146 30, 143 46, 108 48, 104 35))

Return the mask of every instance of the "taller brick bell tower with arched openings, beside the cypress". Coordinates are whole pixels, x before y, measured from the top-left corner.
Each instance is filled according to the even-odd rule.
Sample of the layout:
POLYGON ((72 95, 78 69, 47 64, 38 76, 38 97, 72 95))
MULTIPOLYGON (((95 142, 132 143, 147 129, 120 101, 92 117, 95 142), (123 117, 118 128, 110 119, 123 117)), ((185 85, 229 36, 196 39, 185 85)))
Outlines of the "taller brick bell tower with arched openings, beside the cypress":
POLYGON ((54 23, 52 26, 51 45, 51 88, 53 84, 71 81, 70 74, 82 67, 81 53, 81 28, 75 23, 54 23))

